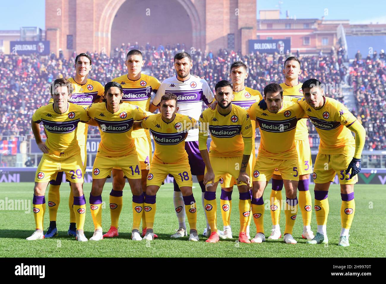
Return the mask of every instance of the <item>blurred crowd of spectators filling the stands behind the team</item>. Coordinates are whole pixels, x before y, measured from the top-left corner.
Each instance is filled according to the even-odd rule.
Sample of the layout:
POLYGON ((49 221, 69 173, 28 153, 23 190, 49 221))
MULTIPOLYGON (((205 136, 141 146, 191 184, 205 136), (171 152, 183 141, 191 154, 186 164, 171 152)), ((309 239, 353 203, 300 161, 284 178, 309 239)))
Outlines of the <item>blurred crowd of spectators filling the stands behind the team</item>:
MULTIPOLYGON (((93 59, 93 69, 89 78, 97 80, 102 85, 113 78, 127 73, 125 57, 130 49, 144 51, 144 73, 156 77, 159 81, 175 75, 173 57, 179 51, 186 49, 184 44, 174 44, 158 47, 122 44, 115 48, 112 57, 103 53, 89 53, 93 59)), ((249 77, 245 85, 259 90, 270 82, 283 82, 281 73, 287 54, 247 54, 220 49, 217 54, 212 51, 204 52, 200 49, 191 50, 193 68, 191 73, 204 77, 210 88, 220 80, 229 80, 230 65, 237 60, 243 61, 249 68, 249 77)), ((297 55, 297 54, 294 54, 297 55)), ((74 58, 64 58, 62 54, 57 58, 54 54, 49 57, 18 56, 0 54, 0 129, 3 136, 29 135, 30 118, 37 107, 49 100, 47 83, 58 77, 72 77, 74 74, 74 58)), ((385 143, 385 88, 386 67, 383 51, 373 58, 357 58, 349 70, 346 69, 342 53, 322 54, 315 56, 300 56, 300 81, 307 78, 317 78, 321 82, 330 84, 328 96, 340 98, 338 84, 348 83, 354 88, 357 99, 357 109, 353 113, 362 120, 366 128, 366 145, 364 150, 381 150, 385 143), (339 92, 338 92, 339 93, 339 92)), ((311 123, 310 133, 316 133, 311 123)), ((89 134, 97 134, 96 127, 90 127, 89 134)))

